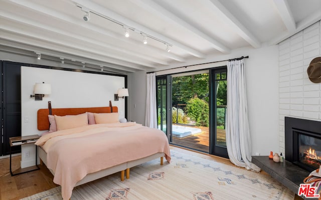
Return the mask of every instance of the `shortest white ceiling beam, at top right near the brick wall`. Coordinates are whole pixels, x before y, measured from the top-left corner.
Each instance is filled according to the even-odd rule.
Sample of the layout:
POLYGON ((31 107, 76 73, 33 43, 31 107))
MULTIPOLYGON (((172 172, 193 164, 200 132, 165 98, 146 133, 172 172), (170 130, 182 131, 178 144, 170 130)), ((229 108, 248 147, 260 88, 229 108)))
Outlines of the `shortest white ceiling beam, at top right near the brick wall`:
POLYGON ((273 0, 277 11, 281 16, 283 23, 288 31, 292 32, 296 29, 295 21, 287 0, 273 0))

